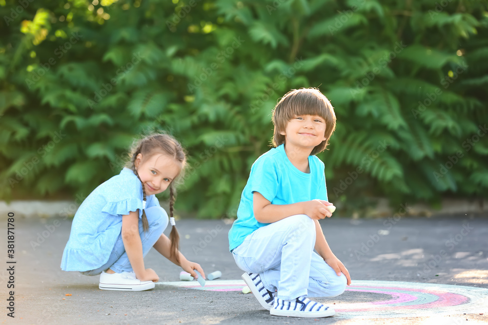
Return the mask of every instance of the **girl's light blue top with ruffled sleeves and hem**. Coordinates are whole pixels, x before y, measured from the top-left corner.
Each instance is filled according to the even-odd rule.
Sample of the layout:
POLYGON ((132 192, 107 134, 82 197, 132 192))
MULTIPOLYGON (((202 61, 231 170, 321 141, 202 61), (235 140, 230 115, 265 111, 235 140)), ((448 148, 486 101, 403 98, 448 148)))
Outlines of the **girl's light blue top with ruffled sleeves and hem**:
MULTIPOLYGON (((122 215, 139 210, 141 218, 142 198, 142 183, 128 168, 93 190, 75 213, 61 269, 90 271, 107 263, 122 231, 122 215)), ((146 196, 145 208, 152 206, 159 206, 158 198, 146 196)))

